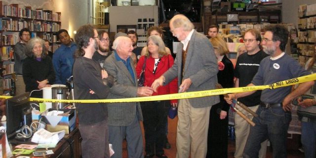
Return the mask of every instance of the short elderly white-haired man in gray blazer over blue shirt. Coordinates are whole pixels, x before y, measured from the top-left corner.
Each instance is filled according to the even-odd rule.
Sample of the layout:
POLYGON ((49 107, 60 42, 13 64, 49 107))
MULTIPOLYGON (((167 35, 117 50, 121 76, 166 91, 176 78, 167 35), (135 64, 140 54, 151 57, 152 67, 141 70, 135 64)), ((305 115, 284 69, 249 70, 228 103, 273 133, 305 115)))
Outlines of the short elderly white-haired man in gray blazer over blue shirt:
MULTIPOLYGON (((132 41, 120 36, 113 42, 114 53, 104 62, 103 68, 113 75, 115 83, 110 89, 109 99, 150 96, 151 87, 137 87, 137 77, 131 54, 132 41)), ((122 158, 122 141, 126 137, 128 158, 143 158, 143 137, 139 120, 143 120, 139 102, 110 103, 108 106, 109 142, 115 154, 111 158, 122 158)))

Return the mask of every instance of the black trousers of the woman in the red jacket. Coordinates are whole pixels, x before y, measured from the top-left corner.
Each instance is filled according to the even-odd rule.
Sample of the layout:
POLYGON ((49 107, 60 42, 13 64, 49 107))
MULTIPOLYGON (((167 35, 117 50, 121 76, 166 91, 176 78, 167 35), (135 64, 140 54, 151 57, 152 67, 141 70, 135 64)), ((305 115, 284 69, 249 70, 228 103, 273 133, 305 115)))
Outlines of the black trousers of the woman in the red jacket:
POLYGON ((164 154, 166 122, 170 101, 141 102, 145 131, 146 154, 164 154))

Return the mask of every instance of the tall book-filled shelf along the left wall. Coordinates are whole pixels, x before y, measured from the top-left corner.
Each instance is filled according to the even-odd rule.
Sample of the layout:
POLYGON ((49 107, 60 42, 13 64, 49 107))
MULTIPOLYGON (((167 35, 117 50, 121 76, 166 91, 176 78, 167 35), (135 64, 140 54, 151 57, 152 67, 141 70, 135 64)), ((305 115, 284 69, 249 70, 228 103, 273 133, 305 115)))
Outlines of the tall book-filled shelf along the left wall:
MULTIPOLYGON (((54 52, 60 43, 56 33, 61 28, 61 12, 43 8, 32 8, 19 4, 4 4, 0 0, 0 79, 2 91, 12 91, 14 74, 13 47, 19 38, 19 31, 29 28, 31 38, 40 37, 50 42, 49 51, 54 52)), ((0 93, 2 92, 0 91, 0 93)))

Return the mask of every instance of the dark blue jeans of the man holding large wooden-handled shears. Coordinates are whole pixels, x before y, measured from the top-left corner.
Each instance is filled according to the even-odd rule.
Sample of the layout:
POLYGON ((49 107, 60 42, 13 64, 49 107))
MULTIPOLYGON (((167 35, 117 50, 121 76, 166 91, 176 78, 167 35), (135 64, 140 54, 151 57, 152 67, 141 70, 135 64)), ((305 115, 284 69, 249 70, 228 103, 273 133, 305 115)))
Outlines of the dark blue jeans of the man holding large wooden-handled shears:
POLYGON ((243 152, 243 158, 258 158, 260 143, 269 139, 273 148, 273 158, 286 158, 286 134, 292 119, 290 112, 282 107, 258 108, 259 118, 253 118, 255 126, 250 133, 243 152))

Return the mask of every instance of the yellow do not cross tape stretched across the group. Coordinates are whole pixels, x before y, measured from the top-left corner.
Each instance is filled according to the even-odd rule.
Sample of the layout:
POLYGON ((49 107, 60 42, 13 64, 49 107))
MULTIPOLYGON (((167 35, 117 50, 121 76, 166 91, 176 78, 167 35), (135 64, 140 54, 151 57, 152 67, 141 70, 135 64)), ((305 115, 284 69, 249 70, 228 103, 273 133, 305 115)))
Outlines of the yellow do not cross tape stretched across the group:
MULTIPOLYGON (((223 89, 212 89, 212 90, 203 90, 195 92, 185 92, 185 93, 176 93, 176 94, 166 94, 166 95, 156 95, 149 97, 136 97, 136 98, 121 98, 121 99, 94 99, 94 100, 57 100, 57 99, 42 99, 42 98, 30 98, 30 101, 34 102, 58 102, 58 103, 123 103, 123 102, 143 102, 143 101, 158 101, 158 100, 172 100, 172 99, 185 99, 185 98, 197 98, 205 97, 212 95, 220 95, 227 93, 239 93, 239 92, 248 92, 254 90, 263 90, 263 89, 275 89, 279 87, 294 85, 298 83, 303 83, 311 80, 316 80, 316 74, 307 75, 294 79, 287 79, 279 81, 270 85, 258 85, 258 86, 247 86, 247 87, 237 87, 237 88, 223 88, 223 89)), ((10 98, 11 96, 0 96, 0 98, 10 98)))

